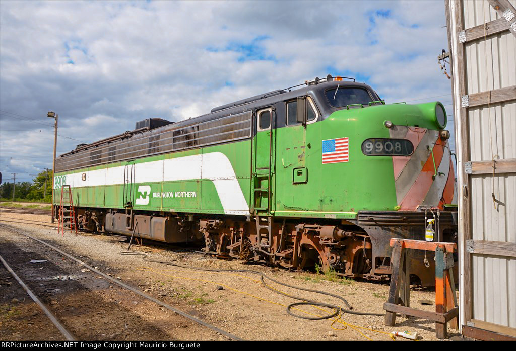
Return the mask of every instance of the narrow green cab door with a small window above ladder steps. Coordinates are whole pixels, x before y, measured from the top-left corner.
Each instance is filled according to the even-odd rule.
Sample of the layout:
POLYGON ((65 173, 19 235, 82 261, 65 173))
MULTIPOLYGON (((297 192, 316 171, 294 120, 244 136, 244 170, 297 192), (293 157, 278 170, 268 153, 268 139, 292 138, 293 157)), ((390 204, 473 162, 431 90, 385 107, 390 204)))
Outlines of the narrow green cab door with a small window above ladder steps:
POLYGON ((256 110, 256 135, 253 143, 252 208, 256 216, 271 210, 275 163, 275 112, 272 107, 256 110))

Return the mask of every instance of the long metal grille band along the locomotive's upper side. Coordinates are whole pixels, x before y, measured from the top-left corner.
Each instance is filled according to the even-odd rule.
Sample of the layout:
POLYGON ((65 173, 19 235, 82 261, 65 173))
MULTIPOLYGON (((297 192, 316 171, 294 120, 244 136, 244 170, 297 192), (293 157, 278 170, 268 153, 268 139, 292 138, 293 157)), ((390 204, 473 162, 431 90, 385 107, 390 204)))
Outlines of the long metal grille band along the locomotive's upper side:
POLYGON ((94 151, 60 157, 56 160, 56 172, 247 139, 251 137, 251 117, 249 111, 150 136, 135 134, 116 144, 100 145, 94 151))

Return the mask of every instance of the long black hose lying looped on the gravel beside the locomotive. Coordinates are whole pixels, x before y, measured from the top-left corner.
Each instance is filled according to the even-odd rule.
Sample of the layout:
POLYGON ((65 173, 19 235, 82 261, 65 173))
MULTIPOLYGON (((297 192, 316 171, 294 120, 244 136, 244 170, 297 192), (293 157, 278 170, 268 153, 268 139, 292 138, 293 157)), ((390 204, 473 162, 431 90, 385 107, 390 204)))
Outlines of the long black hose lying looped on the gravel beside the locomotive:
POLYGON ((181 268, 187 268, 187 269, 197 269, 197 270, 200 270, 200 271, 211 271, 211 272, 243 272, 243 273, 253 273, 253 274, 258 274, 260 275, 260 280, 262 282, 262 284, 269 290, 272 290, 276 293, 279 293, 281 295, 284 295, 284 296, 287 296, 287 297, 292 297, 292 299, 296 299, 296 300, 300 300, 302 302, 294 302, 290 305, 287 306, 287 313, 290 314, 290 315, 293 315, 294 317, 297 317, 297 318, 302 318, 302 319, 308 319, 308 320, 321 320, 321 319, 329 319, 329 318, 332 318, 332 317, 335 317, 337 314, 339 314, 339 312, 343 312, 343 313, 349 313, 349 314, 358 314, 358 315, 380 315, 380 316, 384 316, 385 314, 384 313, 369 313, 369 312, 358 312, 358 311, 352 311, 352 307, 348 304, 348 302, 346 301, 346 299, 344 299, 344 297, 342 296, 338 296, 338 295, 335 295, 335 294, 332 294, 332 293, 329 293, 329 292, 326 292, 326 291, 321 291, 321 290, 315 290, 315 289, 307 289, 307 288, 303 288, 303 287, 298 287, 298 286, 294 286, 294 285, 289 285, 289 284, 286 284, 286 283, 282 283, 282 282, 279 282, 278 280, 274 279, 274 278, 271 278, 269 276, 267 276, 265 273, 262 273, 260 271, 254 271, 254 270, 251 270, 251 269, 215 269, 215 268, 200 268, 200 267, 195 267, 195 266, 185 266, 185 265, 180 265, 180 264, 176 264, 174 262, 170 262, 170 261, 156 261, 156 260, 151 260, 151 259, 148 259, 147 258, 147 254, 141 254, 141 253, 138 253, 138 252, 121 252, 120 253, 121 255, 128 255, 128 256, 143 256, 143 260, 144 261, 147 261, 147 262, 153 262, 153 263, 159 263, 159 264, 164 264, 164 265, 171 265, 171 266, 176 266, 176 267, 181 267, 181 268), (289 287, 289 288, 293 288, 293 289, 298 289, 298 290, 304 290, 304 291, 310 291, 310 292, 315 292, 315 293, 318 293, 318 294, 323 294, 323 295, 327 295, 327 296, 332 296, 332 297, 335 297, 336 299, 339 299, 341 300, 342 302, 344 302, 344 304, 348 307, 348 309, 343 309, 341 308, 340 306, 336 306, 336 305, 332 305, 332 304, 327 304, 327 303, 323 303, 323 302, 317 302, 317 301, 313 301, 313 300, 309 300, 309 299, 305 299, 304 297, 299 297, 299 296, 294 296, 294 295, 289 295, 287 293, 284 293, 282 291, 279 291, 279 290, 276 290, 276 289, 273 289, 271 287, 269 287, 266 283, 265 283, 265 280, 264 278, 267 278, 269 280, 271 280, 272 282, 275 282, 279 285, 283 285, 283 286, 286 286, 286 287, 289 287), (314 317, 303 317, 303 316, 300 316, 300 315, 296 315, 296 314, 293 314, 290 310, 292 307, 296 306, 296 305, 315 305, 315 306, 322 306, 322 307, 328 307, 328 308, 333 308, 335 309, 335 312, 333 312, 332 314, 329 314, 325 317, 317 317, 317 318, 314 318, 314 317))

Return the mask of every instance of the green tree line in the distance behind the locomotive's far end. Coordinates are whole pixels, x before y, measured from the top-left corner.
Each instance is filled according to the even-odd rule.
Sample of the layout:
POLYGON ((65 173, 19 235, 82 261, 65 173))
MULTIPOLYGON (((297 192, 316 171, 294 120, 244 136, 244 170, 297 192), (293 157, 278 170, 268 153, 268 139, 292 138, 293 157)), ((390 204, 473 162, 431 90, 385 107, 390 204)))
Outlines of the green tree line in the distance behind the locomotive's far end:
POLYGON ((36 176, 32 182, 16 182, 16 187, 14 187, 14 183, 4 182, 0 185, 0 198, 3 200, 12 200, 14 187, 15 200, 31 200, 50 203, 52 202, 53 179, 52 170, 44 170, 39 172, 38 176, 36 176))

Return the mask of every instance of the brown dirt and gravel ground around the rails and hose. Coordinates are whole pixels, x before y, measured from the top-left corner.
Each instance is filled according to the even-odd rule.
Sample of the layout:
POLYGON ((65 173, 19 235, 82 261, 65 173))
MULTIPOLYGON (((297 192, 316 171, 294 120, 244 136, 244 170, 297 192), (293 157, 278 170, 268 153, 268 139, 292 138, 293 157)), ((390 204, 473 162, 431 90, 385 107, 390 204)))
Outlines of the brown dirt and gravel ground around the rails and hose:
MULTIPOLYGON (((389 332, 393 330, 417 331, 422 340, 438 340, 433 322, 413 317, 398 317, 395 327, 386 327, 384 317, 370 315, 344 314, 337 321, 295 318, 287 314, 286 305, 297 300, 266 289, 258 275, 206 272, 146 262, 140 256, 122 256, 120 252, 127 250, 128 243, 118 236, 80 233, 62 237, 52 226, 35 225, 40 221, 50 223, 49 216, 10 213, 0 220, 1 224, 27 231, 88 265, 245 340, 390 341, 389 332)), ((133 245, 132 250, 145 253, 152 260, 181 265, 261 271, 289 285, 343 296, 354 310, 361 312, 384 313, 382 306, 389 291, 387 283, 219 260, 195 253, 195 248, 144 241, 142 245, 133 245)), ((0 227, 0 255, 81 340, 228 340, 94 272, 83 272, 84 267, 76 262, 4 227, 0 227), (47 261, 31 264, 33 259, 47 261)), ((8 277, 10 274, 0 267, 0 340, 61 340, 46 315, 8 277)), ((331 296, 267 284, 288 294, 343 305, 331 296)), ((433 305, 418 302, 434 301, 433 289, 413 286, 410 298, 412 307, 435 310, 433 305)), ((312 317, 329 314, 329 310, 313 306, 299 306, 293 312, 312 317)), ((457 336, 458 331, 448 329, 448 334, 457 336)))

